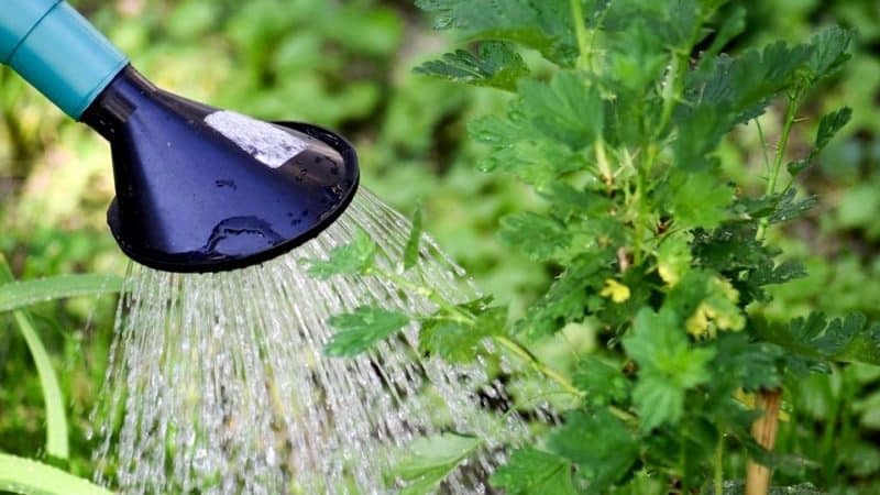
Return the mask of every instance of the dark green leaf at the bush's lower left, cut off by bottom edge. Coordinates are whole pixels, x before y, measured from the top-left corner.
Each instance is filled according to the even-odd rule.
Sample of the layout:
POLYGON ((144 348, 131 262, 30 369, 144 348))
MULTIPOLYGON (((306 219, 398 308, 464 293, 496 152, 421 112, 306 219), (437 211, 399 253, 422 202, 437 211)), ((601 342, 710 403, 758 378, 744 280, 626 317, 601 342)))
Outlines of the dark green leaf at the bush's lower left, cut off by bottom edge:
POLYGON ((526 447, 514 451, 490 482, 508 495, 576 495, 571 471, 565 459, 526 447))

